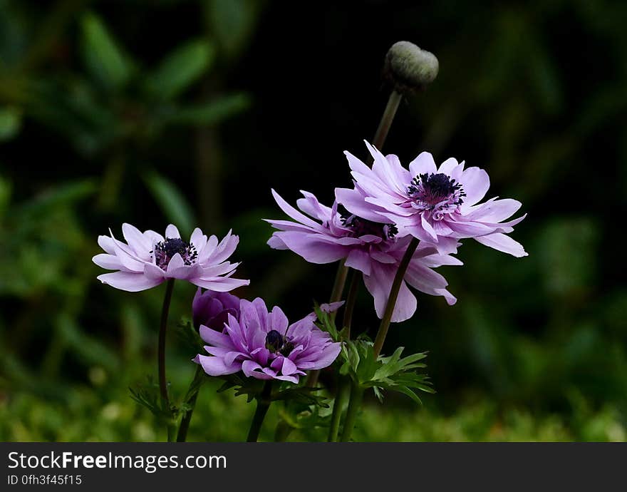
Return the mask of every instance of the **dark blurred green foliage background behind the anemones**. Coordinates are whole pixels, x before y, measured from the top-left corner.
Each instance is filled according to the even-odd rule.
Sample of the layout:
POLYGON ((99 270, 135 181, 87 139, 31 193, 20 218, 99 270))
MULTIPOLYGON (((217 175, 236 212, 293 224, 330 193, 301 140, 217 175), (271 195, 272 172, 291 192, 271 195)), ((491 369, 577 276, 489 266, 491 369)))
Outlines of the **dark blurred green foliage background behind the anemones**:
MULTIPOLYGON (((366 401, 355 439, 625 441, 627 4, 621 1, 0 0, 0 439, 165 439, 129 386, 156 372, 164 287, 100 285, 97 236, 122 222, 241 237, 234 260, 291 319, 334 265, 265 245, 270 188, 332 200, 388 96, 406 39, 440 75, 403 104, 384 150, 485 168, 521 200, 529 257, 467 241, 386 347, 429 351, 437 393, 366 401)), ((175 287, 170 324, 195 289, 175 287)), ((356 326, 372 334, 361 292, 356 326)), ((195 370, 172 329, 168 376, 195 370)), ((323 379, 324 381, 324 379, 323 379)), ((193 441, 241 441, 253 408, 202 389, 193 441)), ((261 438, 271 439, 280 405, 261 438)), ((319 439, 323 430, 290 439, 319 439)))

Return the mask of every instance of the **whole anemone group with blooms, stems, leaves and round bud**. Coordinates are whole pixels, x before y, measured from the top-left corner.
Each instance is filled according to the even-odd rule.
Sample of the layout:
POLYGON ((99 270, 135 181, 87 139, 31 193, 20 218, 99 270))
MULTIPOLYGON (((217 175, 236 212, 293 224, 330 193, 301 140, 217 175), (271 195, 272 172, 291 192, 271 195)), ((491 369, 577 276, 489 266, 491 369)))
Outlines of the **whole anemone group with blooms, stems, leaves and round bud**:
MULTIPOLYGON (((413 43, 401 41, 390 48, 385 59, 385 79, 393 83, 394 91, 375 141, 385 140, 395 112, 390 108, 398 106, 401 94, 425 88, 437 75, 438 67, 432 53, 413 43)), ((284 407, 281 418, 285 425, 277 426, 277 435, 286 426, 299 427, 295 422, 301 414, 318 416, 311 406, 323 406, 321 399, 325 396, 312 395, 312 391, 321 389, 316 387, 317 371, 331 366, 342 354, 343 361, 336 367, 338 375, 350 380, 350 400, 342 419, 342 393, 338 389, 328 441, 338 439, 342 420, 341 439, 348 441, 366 389, 373 389, 379 399, 385 389, 399 391, 418 402, 416 391, 432 392, 427 376, 416 371, 425 367, 420 362, 425 353, 401 358, 403 347, 398 347, 388 357, 381 355, 390 322, 403 322, 416 312, 418 301, 412 289, 455 304, 457 299, 447 289, 445 277, 435 269, 462 265, 454 255, 466 239, 514 257, 527 255, 524 247, 508 235, 525 217, 512 218, 521 203, 498 198, 482 202, 489 189, 484 170, 465 168, 465 163, 454 158, 438 166, 427 152, 420 153, 405 168, 396 155, 383 155, 367 142, 366 146, 372 166, 345 152, 353 188, 336 188, 330 207, 302 191, 303 198, 296 200, 296 208, 271 190, 289 219, 266 220, 274 227, 268 245, 276 250, 291 250, 311 263, 340 262, 331 302, 321 304, 316 313, 294 323, 289 323, 281 308, 269 310, 259 297, 248 301, 229 293, 249 285, 249 280, 233 278, 239 263, 228 259, 239 238, 231 232, 219 241, 216 236, 207 237, 195 229, 187 241, 175 225, 168 225, 162 236, 123 224, 125 242, 115 239, 112 232, 110 236, 98 237, 105 252, 95 255, 93 262, 114 270, 98 276, 104 284, 135 292, 168 281, 157 349, 159 396, 145 391, 133 395, 155 415, 165 416, 169 440, 173 440, 172 429, 182 409, 184 416, 176 437, 177 441, 185 441, 203 371, 227 379, 224 387, 234 384, 239 386, 239 394, 257 400, 247 438, 256 441, 273 400, 296 401, 295 406, 284 407), (351 287, 343 327, 338 329, 334 311, 344 304, 340 299, 349 269, 353 270, 351 287), (368 337, 351 339, 351 319, 361 279, 381 319, 373 342, 368 337), (170 403, 165 374, 167 314, 174 280, 185 280, 198 287, 192 302, 192 322, 206 343, 206 354, 192 359, 202 371, 197 369, 186 401, 180 406, 170 403), (251 379, 243 382, 240 374, 251 379), (305 375, 306 384, 294 387, 305 375)), ((192 332, 191 339, 200 345, 198 334, 192 332)), ((340 382, 338 388, 346 381, 340 382)))

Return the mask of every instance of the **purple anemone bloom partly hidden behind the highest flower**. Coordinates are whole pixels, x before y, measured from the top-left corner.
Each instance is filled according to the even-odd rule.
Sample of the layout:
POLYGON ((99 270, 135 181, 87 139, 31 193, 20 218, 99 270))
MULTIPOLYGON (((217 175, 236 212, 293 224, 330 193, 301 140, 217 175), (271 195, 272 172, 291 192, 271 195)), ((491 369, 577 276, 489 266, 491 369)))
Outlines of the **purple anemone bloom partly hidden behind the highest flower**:
MULTIPOLYGON (((397 237, 393 224, 382 224, 365 220, 357 215, 341 215, 338 204, 326 207, 306 191, 296 205, 310 217, 289 205, 272 190, 279 204, 291 220, 267 220, 274 232, 268 245, 276 250, 291 250, 311 263, 331 263, 346 259, 345 265, 363 273, 363 282, 374 298, 375 311, 383 317, 392 282, 400 260, 411 240, 410 236, 397 237)), ((455 252, 459 243, 455 242, 455 252)), ((393 322, 402 322, 413 316, 416 297, 407 284, 420 292, 441 295, 448 304, 457 299, 447 291, 447 281, 432 268, 442 265, 462 265, 450 255, 441 255, 434 245, 420 242, 410 261, 392 315, 393 322)))

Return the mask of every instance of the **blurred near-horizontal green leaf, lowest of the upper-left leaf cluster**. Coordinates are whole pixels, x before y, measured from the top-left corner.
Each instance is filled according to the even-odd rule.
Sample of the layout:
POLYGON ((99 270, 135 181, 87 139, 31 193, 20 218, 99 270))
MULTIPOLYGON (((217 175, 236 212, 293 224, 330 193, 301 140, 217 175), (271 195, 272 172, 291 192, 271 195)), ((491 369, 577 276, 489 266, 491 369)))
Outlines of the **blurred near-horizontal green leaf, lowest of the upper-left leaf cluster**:
POLYGON ((166 125, 214 125, 241 113, 250 106, 248 94, 237 93, 223 96, 193 108, 177 108, 162 116, 166 125))

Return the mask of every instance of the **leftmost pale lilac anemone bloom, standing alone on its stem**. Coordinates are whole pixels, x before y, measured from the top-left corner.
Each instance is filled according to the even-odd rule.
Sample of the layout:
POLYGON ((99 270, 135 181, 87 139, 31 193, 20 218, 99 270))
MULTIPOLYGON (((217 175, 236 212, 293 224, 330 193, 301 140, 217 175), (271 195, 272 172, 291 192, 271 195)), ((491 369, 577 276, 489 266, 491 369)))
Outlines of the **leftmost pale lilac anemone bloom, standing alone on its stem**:
POLYGON ((122 232, 126 242, 116 240, 113 232, 110 237, 98 236, 98 245, 105 253, 95 255, 93 262, 107 270, 118 270, 99 275, 103 284, 138 292, 167 279, 181 279, 205 289, 227 292, 250 283, 231 278, 239 263, 226 260, 239 238, 230 231, 220 242, 215 236, 207 238, 198 228, 192 232, 190 242, 184 241, 172 224, 167 226, 165 237, 152 230, 141 232, 130 224, 123 224, 122 232))

